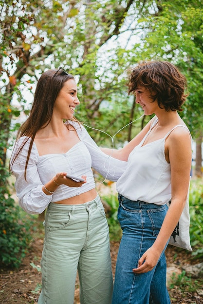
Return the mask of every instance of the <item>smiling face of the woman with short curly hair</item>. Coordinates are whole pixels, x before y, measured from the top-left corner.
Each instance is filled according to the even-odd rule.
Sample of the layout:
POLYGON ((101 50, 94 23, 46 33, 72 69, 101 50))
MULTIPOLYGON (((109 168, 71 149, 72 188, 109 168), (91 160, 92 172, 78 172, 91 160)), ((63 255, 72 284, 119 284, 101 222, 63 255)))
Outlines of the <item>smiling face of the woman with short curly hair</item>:
POLYGON ((136 103, 139 103, 144 110, 145 115, 151 115, 155 113, 158 103, 157 100, 154 101, 151 93, 148 89, 146 89, 144 86, 139 86, 135 90, 136 94, 136 103))

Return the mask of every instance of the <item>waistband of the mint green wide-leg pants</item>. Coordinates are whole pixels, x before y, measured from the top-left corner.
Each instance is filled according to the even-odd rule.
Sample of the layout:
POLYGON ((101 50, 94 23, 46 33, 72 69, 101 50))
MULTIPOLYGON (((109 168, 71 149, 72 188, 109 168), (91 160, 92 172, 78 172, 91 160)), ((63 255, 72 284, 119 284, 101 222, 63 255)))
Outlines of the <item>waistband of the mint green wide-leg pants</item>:
POLYGON ((100 196, 97 194, 95 199, 93 199, 90 202, 82 203, 82 204, 74 204, 74 205, 69 205, 69 204, 57 204, 57 203, 50 203, 48 206, 48 209, 50 211, 55 211, 55 212, 71 212, 71 211, 83 211, 86 210, 87 207, 89 209, 96 207, 100 203, 100 196))

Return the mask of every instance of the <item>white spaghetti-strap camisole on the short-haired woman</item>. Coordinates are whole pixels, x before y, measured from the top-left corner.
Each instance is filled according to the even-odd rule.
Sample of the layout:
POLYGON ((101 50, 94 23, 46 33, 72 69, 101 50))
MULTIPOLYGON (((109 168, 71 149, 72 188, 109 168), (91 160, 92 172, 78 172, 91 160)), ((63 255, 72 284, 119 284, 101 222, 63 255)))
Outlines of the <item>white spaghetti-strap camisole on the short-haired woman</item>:
POLYGON ((118 179, 116 190, 131 201, 163 205, 171 199, 171 170, 165 158, 165 140, 175 128, 188 128, 177 125, 164 138, 142 146, 157 122, 155 117, 148 133, 129 154, 127 169, 118 179))

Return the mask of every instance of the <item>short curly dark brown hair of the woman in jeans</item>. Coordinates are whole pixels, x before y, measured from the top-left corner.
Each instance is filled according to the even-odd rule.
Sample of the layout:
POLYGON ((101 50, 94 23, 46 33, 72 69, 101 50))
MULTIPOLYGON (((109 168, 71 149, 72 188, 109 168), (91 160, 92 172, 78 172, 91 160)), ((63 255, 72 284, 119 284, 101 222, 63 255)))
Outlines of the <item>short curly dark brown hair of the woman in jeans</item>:
POLYGON ((152 100, 157 99, 160 108, 183 111, 182 105, 188 96, 185 94, 186 78, 173 64, 166 61, 142 62, 129 73, 129 94, 135 94, 139 86, 144 86, 151 92, 152 100))

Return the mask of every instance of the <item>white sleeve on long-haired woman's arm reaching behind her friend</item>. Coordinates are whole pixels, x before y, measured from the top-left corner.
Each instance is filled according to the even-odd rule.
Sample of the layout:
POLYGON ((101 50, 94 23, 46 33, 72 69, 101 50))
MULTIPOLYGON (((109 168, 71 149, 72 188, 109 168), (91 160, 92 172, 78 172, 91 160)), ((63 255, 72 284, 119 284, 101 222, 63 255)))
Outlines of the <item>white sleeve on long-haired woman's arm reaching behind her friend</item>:
POLYGON ((91 154, 92 168, 108 180, 116 182, 124 173, 127 162, 115 159, 102 152, 83 126, 81 128, 77 127, 76 131, 91 154))

